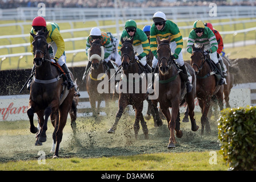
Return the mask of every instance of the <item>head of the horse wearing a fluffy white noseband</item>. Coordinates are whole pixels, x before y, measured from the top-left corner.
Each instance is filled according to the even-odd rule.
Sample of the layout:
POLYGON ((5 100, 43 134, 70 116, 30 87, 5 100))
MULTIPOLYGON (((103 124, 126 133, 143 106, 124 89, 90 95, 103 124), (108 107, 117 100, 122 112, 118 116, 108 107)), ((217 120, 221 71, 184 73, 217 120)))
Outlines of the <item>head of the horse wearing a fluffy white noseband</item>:
POLYGON ((91 48, 88 49, 88 59, 91 61, 91 65, 94 69, 99 68, 99 64, 104 59, 104 48, 101 46, 102 39, 89 40, 91 48))

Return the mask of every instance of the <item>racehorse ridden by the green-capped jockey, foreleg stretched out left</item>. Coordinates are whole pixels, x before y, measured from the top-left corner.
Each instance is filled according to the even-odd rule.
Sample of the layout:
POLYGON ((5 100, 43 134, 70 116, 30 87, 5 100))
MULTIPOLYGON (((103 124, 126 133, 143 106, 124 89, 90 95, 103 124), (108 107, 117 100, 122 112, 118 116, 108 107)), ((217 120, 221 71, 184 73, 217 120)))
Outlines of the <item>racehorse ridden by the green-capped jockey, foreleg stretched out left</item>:
MULTIPOLYGON (((135 77, 135 75, 141 76, 143 71, 140 68, 139 63, 135 59, 134 49, 133 49, 133 38, 124 38, 121 39, 122 47, 121 51, 121 60, 122 60, 122 68, 123 68, 123 77, 119 82, 119 100, 118 100, 118 112, 115 116, 115 122, 111 129, 107 131, 107 133, 114 133, 117 129, 117 124, 119 119, 121 118, 123 111, 127 105, 133 105, 135 108, 135 123, 134 123, 134 133, 135 138, 138 137, 139 131, 139 121, 141 121, 142 131, 147 139, 149 137, 149 131, 147 129, 146 122, 143 118, 142 109, 143 109, 143 101, 147 97, 146 88, 145 93, 142 90, 143 78, 135 77), (133 75, 133 76, 130 76, 133 75), (129 86, 127 86, 129 85, 129 86), (130 87, 132 86, 133 90, 130 91, 130 87), (138 92, 137 92, 138 91, 138 92)), ((146 78, 145 78, 146 79, 146 78)), ((145 81, 145 80, 144 80, 145 81)), ((161 121, 162 122, 162 121, 161 121)))

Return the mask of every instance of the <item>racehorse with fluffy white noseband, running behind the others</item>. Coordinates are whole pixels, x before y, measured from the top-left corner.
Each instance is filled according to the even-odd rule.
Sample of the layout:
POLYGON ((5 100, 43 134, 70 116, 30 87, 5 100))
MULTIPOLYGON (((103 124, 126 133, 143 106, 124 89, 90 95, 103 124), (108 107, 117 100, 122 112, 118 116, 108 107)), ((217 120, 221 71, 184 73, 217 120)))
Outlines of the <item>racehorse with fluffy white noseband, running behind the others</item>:
POLYGON ((101 46, 101 42, 102 40, 90 41, 91 48, 88 50, 88 59, 91 61, 91 69, 86 76, 86 90, 89 94, 91 110, 94 117, 99 114, 99 106, 103 100, 105 101, 106 108, 109 109, 109 101, 111 98, 109 82, 107 82, 107 84, 109 84, 107 93, 101 93, 98 90, 98 84, 102 82, 106 76, 110 78, 110 73, 106 72, 106 68, 103 65, 104 49, 101 46), (96 101, 98 101, 97 107, 96 101))

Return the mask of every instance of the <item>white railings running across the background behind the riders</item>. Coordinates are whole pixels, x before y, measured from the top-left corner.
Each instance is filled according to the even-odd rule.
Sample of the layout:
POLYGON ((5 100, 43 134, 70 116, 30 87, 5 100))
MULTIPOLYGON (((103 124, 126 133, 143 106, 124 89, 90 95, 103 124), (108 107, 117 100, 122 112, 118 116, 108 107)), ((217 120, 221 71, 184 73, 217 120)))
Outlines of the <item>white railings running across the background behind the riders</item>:
MULTIPOLYGON (((61 33, 69 33, 70 38, 65 39, 66 43, 71 43, 73 45, 73 49, 66 50, 66 54, 72 54, 71 59, 71 65, 73 65, 75 56, 78 53, 85 52, 85 49, 77 49, 75 47, 75 43, 81 40, 86 40, 87 36, 81 36, 81 37, 74 37, 74 32, 90 32, 92 27, 84 27, 84 28, 74 28, 74 23, 76 22, 84 22, 93 20, 98 24, 98 27, 103 30, 113 30, 113 28, 116 30, 114 33, 114 36, 117 36, 119 38, 120 31, 119 28, 122 29, 124 26, 124 23, 127 19, 139 19, 142 20, 142 22, 139 22, 138 25, 146 25, 146 24, 152 24, 152 16, 155 11, 161 10, 165 12, 167 19, 174 20, 175 23, 178 22, 185 22, 187 23, 186 26, 180 26, 180 30, 183 32, 189 32, 191 30, 191 21, 202 19, 202 20, 218 20, 218 23, 213 23, 213 26, 220 26, 221 28, 219 31, 221 32, 222 36, 226 35, 232 35, 232 42, 229 44, 225 44, 225 47, 235 47, 238 46, 247 46, 250 44, 256 44, 256 27, 246 28, 246 23, 254 23, 256 22, 256 7, 254 6, 218 6, 217 7, 217 16, 211 16, 210 10, 211 7, 202 6, 202 7, 147 7, 147 8, 122 8, 122 9, 113 9, 113 8, 102 8, 102 9, 83 9, 83 8, 48 8, 45 9, 45 19, 46 20, 53 20, 57 23, 69 23, 70 29, 61 30, 61 33), (234 20, 236 18, 250 18, 247 20, 234 20), (223 19, 229 19, 229 21, 222 22, 223 19), (99 26, 99 22, 103 21, 103 24, 105 20, 111 20, 111 24, 99 26), (120 23, 121 22, 121 23, 120 23), (238 30, 236 28, 236 24, 243 24, 243 28, 238 30), (233 31, 225 31, 224 26, 230 25, 234 27, 233 31), (249 32, 255 32, 255 36, 252 40, 247 40, 247 34, 249 32), (242 42, 237 43, 235 41, 235 38, 238 34, 243 35, 242 42)), ((24 26, 30 25, 31 20, 38 15, 38 11, 40 11, 40 8, 33 8, 33 7, 21 7, 18 9, 0 9, 0 19, 1 20, 16 20, 16 23, 5 23, 0 24, 1 27, 11 27, 11 26, 17 26, 21 27, 20 34, 17 35, 2 35, 0 36, 0 41, 3 39, 7 39, 9 44, 0 46, 0 51, 7 49, 7 54, 0 53, 0 70, 1 65, 3 61, 6 59, 9 59, 9 64, 11 64, 11 57, 18 57, 18 64, 17 68, 20 66, 21 59, 23 57, 31 56, 30 52, 30 43, 27 42, 27 38, 29 37, 29 34, 25 34, 24 26), (23 20, 23 22, 18 22, 20 20, 23 20), (26 22, 26 20, 30 20, 29 22, 26 22), (13 40, 15 38, 23 39, 23 43, 13 44, 13 40), (18 52, 13 53, 13 50, 15 48, 22 47, 24 49, 24 52, 18 52)), ((187 37, 183 37, 183 40, 186 45, 187 37)), ((183 48, 183 51, 185 51, 185 46, 183 48)), ((1 51, 3 52, 3 51, 1 51)))

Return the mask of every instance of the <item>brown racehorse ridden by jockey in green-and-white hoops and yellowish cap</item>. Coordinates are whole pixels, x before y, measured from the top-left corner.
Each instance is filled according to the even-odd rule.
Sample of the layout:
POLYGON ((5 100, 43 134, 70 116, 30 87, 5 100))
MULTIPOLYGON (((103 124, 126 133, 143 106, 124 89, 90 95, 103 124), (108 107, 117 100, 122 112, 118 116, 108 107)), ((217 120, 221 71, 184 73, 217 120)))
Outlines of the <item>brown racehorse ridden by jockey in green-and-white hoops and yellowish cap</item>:
POLYGON ((195 73, 197 74, 196 96, 202 112, 201 135, 203 135, 205 126, 207 133, 210 133, 211 131, 207 114, 213 96, 217 98, 219 108, 221 110, 223 109, 223 85, 218 85, 214 76, 215 72, 211 71, 211 67, 203 55, 204 46, 195 48, 193 45, 192 48, 193 53, 191 55, 190 65, 194 68, 195 73))

